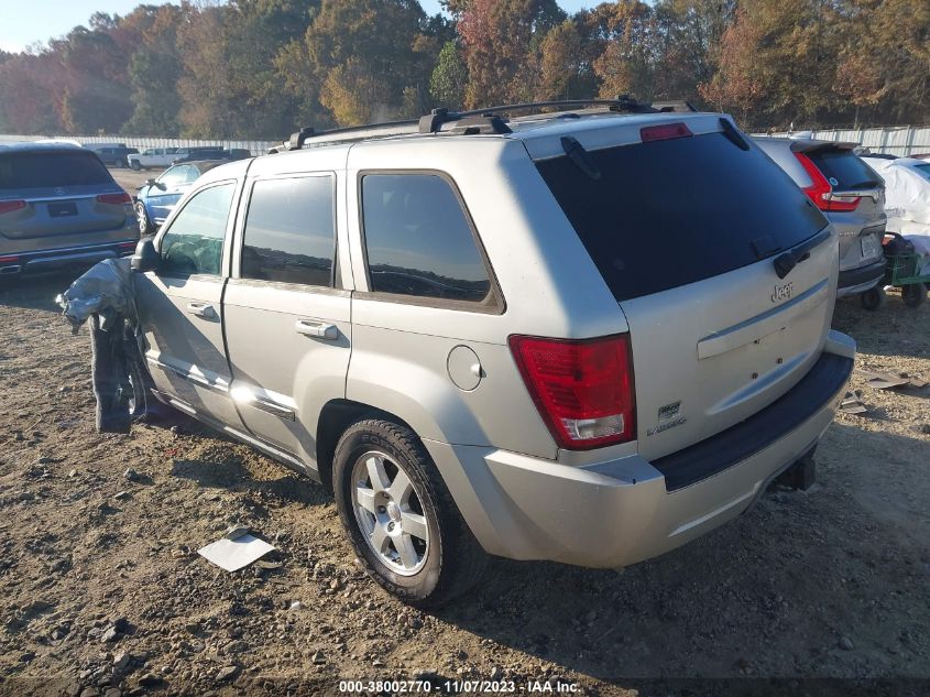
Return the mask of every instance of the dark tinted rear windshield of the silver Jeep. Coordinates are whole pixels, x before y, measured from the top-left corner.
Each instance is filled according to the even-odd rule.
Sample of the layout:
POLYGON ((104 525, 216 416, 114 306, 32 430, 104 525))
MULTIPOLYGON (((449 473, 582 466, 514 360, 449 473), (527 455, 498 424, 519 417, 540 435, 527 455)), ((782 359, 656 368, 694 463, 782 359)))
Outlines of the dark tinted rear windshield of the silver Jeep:
POLYGON ((758 148, 722 133, 589 155, 600 179, 567 156, 537 167, 619 301, 746 266, 827 226, 758 148))

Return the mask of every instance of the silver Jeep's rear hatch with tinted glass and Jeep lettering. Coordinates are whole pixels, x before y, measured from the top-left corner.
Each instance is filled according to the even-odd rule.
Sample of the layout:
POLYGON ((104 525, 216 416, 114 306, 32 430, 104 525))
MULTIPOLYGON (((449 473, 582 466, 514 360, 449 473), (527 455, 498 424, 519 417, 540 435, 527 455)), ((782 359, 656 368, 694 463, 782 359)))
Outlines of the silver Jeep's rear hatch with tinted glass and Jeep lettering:
POLYGON ((579 132, 583 153, 564 142, 568 154, 537 161, 626 316, 646 457, 785 394, 830 325, 836 244, 821 232, 827 220, 722 121, 621 124, 614 143, 628 144, 603 146, 601 132, 588 149, 579 132), (798 263, 783 263, 779 277, 776 260, 798 263))

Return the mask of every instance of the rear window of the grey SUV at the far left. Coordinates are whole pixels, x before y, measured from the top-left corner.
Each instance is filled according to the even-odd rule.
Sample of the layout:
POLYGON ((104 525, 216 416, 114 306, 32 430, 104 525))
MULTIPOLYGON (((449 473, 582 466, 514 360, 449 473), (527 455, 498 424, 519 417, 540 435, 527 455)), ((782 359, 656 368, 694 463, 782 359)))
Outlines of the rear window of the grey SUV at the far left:
POLYGON ((0 154, 0 189, 112 183, 107 167, 90 153, 77 151, 0 154))

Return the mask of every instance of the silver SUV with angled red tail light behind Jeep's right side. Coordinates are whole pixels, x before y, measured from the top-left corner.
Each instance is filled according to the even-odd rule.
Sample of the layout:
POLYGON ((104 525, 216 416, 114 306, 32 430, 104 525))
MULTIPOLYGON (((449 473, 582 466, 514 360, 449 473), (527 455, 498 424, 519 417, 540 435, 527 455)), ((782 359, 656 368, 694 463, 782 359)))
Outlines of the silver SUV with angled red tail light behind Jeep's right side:
MULTIPOLYGON (((755 138, 833 224, 840 238, 838 295, 864 294, 885 276, 885 185, 853 152, 856 143, 755 138)), ((867 304, 874 294, 863 295, 867 304)))

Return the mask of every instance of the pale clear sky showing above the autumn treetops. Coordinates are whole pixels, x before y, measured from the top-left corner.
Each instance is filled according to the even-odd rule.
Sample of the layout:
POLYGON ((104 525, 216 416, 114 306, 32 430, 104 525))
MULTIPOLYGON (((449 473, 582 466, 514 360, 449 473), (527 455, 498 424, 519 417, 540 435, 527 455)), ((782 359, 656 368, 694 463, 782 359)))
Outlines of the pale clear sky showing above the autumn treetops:
MULTIPOLYGON (((165 0, 147 0, 163 4, 165 0)), ((67 34, 98 10, 109 14, 127 14, 143 2, 140 0, 0 0, 0 48, 22 51, 28 45, 67 34)), ((420 0, 430 14, 439 11, 439 0, 420 0)), ((559 0, 568 12, 593 7, 598 0, 559 0)))

